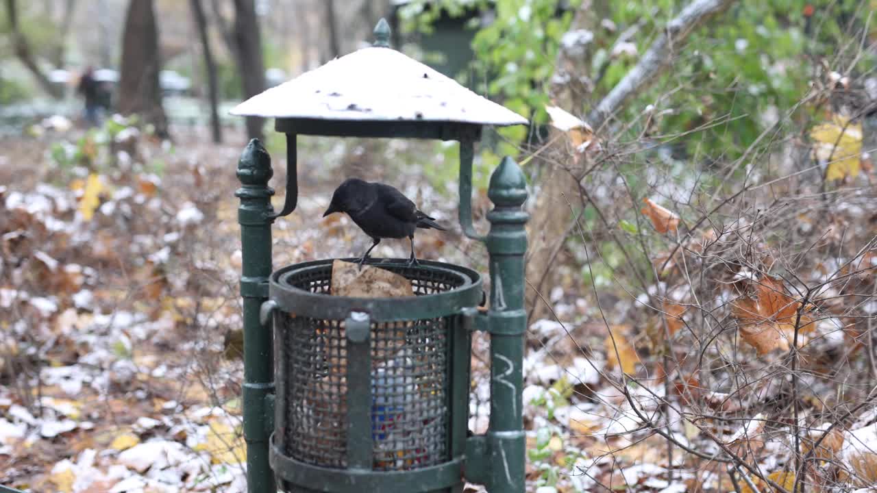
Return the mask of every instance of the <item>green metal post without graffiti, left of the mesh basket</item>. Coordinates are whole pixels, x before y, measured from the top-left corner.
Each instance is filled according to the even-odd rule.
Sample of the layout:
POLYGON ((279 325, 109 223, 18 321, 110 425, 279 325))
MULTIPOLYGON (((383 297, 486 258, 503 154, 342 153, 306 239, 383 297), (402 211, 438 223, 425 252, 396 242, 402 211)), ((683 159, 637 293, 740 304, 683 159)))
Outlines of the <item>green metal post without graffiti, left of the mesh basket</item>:
POLYGON ((271 275, 271 223, 274 190, 268 180, 274 172, 271 157, 259 139, 250 140, 238 161, 241 188, 240 225, 243 275, 240 295, 244 298, 244 438, 246 439, 246 484, 249 493, 275 493, 275 476, 268 465, 270 437, 267 396, 274 393, 274 361, 270 326, 260 323, 261 304, 268 297, 271 275))

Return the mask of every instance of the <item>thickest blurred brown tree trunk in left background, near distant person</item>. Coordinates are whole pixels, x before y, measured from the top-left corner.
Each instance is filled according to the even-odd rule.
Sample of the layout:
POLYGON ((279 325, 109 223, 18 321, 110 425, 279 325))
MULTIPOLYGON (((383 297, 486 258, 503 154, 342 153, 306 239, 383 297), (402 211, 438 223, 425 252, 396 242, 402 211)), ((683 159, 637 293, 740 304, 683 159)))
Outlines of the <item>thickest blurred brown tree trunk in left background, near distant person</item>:
POLYGON ((122 37, 122 74, 118 83, 118 111, 137 113, 155 133, 168 136, 168 118, 161 106, 159 34, 153 0, 131 0, 122 37))

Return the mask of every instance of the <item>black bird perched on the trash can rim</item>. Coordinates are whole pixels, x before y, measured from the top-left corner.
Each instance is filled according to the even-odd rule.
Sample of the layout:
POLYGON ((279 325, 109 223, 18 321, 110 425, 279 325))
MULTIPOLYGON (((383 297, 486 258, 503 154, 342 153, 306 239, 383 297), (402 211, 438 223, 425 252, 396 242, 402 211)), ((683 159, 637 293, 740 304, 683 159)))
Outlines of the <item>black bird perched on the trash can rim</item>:
POLYGON ((332 203, 323 213, 325 218, 332 212, 346 212, 374 244, 362 254, 360 267, 382 238, 405 238, 411 242, 409 265, 417 265, 414 255, 414 232, 417 228, 447 231, 403 196, 399 190, 378 182, 365 182, 359 178, 347 178, 332 194, 332 203))

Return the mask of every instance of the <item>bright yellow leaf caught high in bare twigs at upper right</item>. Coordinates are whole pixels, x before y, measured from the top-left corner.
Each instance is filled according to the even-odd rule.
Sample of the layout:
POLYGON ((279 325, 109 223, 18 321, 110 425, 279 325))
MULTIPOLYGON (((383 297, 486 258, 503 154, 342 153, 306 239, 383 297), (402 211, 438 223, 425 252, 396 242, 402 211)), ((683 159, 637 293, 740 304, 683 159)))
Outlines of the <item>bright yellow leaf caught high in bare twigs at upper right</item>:
POLYGON ((850 124, 849 118, 835 115, 831 123, 810 130, 816 159, 828 161, 826 180, 842 180, 859 175, 862 153, 862 125, 850 124))

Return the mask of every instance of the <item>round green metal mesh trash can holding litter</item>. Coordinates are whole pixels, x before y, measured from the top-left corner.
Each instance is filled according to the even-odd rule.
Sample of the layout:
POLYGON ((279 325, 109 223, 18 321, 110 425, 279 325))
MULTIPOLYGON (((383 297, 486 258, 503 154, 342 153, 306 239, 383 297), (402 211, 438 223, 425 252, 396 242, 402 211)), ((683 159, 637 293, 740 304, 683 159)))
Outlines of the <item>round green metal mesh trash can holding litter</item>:
POLYGON ((471 269, 407 259, 416 297, 330 295, 332 260, 271 275, 278 487, 292 492, 462 489, 470 336, 481 303, 471 269))

